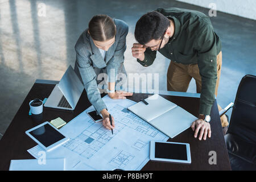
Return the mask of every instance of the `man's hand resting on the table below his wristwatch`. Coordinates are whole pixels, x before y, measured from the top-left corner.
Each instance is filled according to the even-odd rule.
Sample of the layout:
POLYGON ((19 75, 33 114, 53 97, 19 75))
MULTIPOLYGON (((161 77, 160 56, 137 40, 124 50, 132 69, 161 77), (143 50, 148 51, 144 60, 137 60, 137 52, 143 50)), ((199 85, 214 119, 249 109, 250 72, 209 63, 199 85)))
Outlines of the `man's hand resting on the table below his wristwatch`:
POLYGON ((204 140, 207 139, 207 134, 208 137, 210 138, 210 123, 204 121, 203 119, 197 119, 196 121, 194 121, 191 125, 191 128, 193 131, 195 131, 194 137, 197 138, 197 134, 199 133, 200 130, 200 135, 199 135, 199 140, 202 139, 203 135, 204 135, 204 140))

